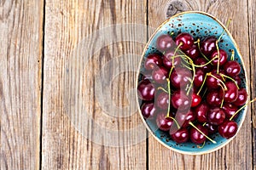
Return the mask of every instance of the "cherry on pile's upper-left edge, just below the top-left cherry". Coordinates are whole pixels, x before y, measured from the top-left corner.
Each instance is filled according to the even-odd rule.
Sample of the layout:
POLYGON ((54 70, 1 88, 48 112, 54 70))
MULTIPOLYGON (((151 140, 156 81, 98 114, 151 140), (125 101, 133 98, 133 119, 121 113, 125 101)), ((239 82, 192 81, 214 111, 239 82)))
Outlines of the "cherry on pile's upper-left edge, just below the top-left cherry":
POLYGON ((156 67, 163 65, 163 60, 160 54, 150 54, 145 59, 144 67, 148 71, 153 71, 156 67))

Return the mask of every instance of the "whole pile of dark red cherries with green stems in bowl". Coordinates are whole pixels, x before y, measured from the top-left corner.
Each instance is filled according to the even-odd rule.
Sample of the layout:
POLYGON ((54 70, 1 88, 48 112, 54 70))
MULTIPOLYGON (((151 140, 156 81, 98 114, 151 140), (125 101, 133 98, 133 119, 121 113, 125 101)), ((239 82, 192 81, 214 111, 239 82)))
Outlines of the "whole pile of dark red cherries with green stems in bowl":
POLYGON ((177 143, 204 144, 219 133, 230 139, 237 132, 236 117, 247 101, 241 88, 241 65, 218 47, 217 37, 197 41, 189 33, 160 35, 159 53, 143 61, 138 97, 145 119, 169 132, 177 143), (173 40, 174 39, 174 40, 173 40))

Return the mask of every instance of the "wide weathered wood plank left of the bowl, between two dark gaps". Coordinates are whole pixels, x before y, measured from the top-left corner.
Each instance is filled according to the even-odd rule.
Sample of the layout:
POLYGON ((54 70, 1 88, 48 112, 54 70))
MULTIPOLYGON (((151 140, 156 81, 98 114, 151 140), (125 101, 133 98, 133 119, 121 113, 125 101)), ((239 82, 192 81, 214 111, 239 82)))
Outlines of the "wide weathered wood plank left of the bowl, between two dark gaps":
POLYGON ((146 25, 146 1, 46 0, 45 19, 42 168, 145 169, 146 130, 124 131, 142 125, 126 99, 140 58, 122 55, 142 54, 147 29, 115 25, 146 25))

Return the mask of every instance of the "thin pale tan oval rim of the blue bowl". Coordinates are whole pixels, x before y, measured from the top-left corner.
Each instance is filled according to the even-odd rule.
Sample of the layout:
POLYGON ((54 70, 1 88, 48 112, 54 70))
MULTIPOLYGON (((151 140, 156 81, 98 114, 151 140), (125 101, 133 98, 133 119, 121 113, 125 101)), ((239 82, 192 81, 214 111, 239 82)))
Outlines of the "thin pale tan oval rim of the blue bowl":
MULTIPOLYGON (((151 37, 148 39, 148 42, 147 42, 145 48, 143 49, 143 54, 142 54, 142 56, 141 56, 141 60, 140 60, 140 62, 139 62, 139 67, 138 67, 138 70, 137 70, 136 87, 137 87, 137 85, 138 85, 138 78, 139 78, 139 76, 140 76, 140 70, 141 70, 141 65, 142 65, 142 62, 143 62, 143 57, 144 57, 144 55, 145 55, 145 53, 146 53, 146 51, 147 51, 147 48, 148 48, 149 43, 152 41, 152 39, 154 38, 155 34, 160 30, 160 28, 161 28, 162 26, 164 26, 167 22, 169 22, 169 21, 172 20, 173 18, 176 18, 177 16, 182 15, 182 14, 203 14, 203 15, 207 15, 208 17, 212 18, 213 20, 216 20, 216 21, 218 22, 218 24, 224 28, 224 31, 226 31, 226 33, 227 33, 228 36, 230 37, 231 41, 234 43, 234 46, 236 47, 236 52, 237 52, 237 54, 240 56, 240 59, 241 59, 241 65, 242 65, 242 67, 243 67, 244 74, 245 74, 245 79, 246 79, 246 91, 247 91, 247 94, 248 94, 248 97, 247 97, 247 102, 248 102, 248 100, 250 99, 250 94, 248 93, 248 87, 249 87, 249 86, 248 86, 247 70, 246 70, 246 67, 245 67, 245 65, 244 65, 244 61, 243 61, 243 59, 242 59, 242 55, 241 55, 241 53, 240 53, 240 49, 239 49, 238 45, 236 44, 236 41, 235 41, 234 37, 232 37, 230 31, 226 28, 226 26, 224 26, 224 24, 223 24, 220 20, 218 20, 216 17, 214 17, 212 14, 208 14, 208 13, 206 13, 206 12, 196 11, 196 10, 195 10, 195 11, 193 11, 193 10, 192 10, 192 11, 184 11, 184 12, 181 12, 181 13, 178 13, 178 14, 174 14, 174 15, 172 15, 170 18, 168 18, 168 19, 166 19, 164 22, 162 22, 162 23, 160 24, 160 26, 158 26, 158 27, 155 29, 154 33, 153 33, 153 34, 151 35, 151 37)), ((164 145, 166 148, 168 148, 169 150, 173 150, 173 151, 176 151, 177 153, 186 154, 186 155, 191 155, 191 156, 208 154, 208 153, 211 153, 211 152, 213 152, 213 151, 216 151, 216 150, 219 150, 219 149, 223 148, 226 144, 229 144, 230 141, 231 141, 232 139, 234 139, 234 138, 236 137, 237 133, 240 131, 241 126, 242 126, 242 124, 243 124, 243 122, 244 122, 244 120, 245 120, 245 117, 246 117, 246 115, 247 115, 247 106, 246 106, 246 107, 244 108, 244 111, 243 111, 243 112, 244 112, 244 115, 241 117, 241 122, 240 122, 240 125, 239 125, 238 128, 237 128, 236 134, 235 134, 232 138, 227 139, 223 144, 220 144, 218 147, 216 147, 216 148, 214 148, 214 149, 212 149, 212 150, 204 150, 204 151, 200 151, 200 152, 183 151, 183 150, 177 150, 177 149, 175 149, 175 148, 172 148, 171 146, 169 146, 168 144, 165 144, 163 141, 161 141, 159 138, 157 138, 157 136, 156 136, 156 135, 152 132, 152 130, 148 127, 147 122, 146 122, 146 121, 144 120, 144 118, 143 118, 142 112, 141 112, 141 110, 140 110, 140 105, 139 105, 137 90, 136 90, 136 99, 137 99, 137 108, 138 108, 138 110, 139 110, 139 115, 141 116, 141 119, 143 120, 143 124, 144 124, 144 126, 147 128, 148 132, 154 137, 154 139, 156 139, 160 144, 163 144, 163 145, 164 145)), ((247 102, 246 102, 246 103, 247 103, 247 102)), ((148 138, 149 138, 149 136, 148 136, 148 138)))

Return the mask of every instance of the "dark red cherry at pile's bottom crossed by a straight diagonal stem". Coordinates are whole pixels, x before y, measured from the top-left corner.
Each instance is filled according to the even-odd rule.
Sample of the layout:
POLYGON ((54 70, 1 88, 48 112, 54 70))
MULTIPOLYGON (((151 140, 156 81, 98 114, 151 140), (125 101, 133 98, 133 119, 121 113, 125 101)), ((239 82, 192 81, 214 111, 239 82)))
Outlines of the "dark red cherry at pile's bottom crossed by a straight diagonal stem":
MULTIPOLYGON (((201 130, 202 133, 204 133, 205 135, 208 135, 208 131, 206 127, 201 126, 200 124, 195 125, 195 127, 197 127, 199 130, 201 130)), ((194 143, 194 144, 202 144, 206 141, 206 137, 200 133, 198 130, 195 129, 195 127, 191 127, 190 128, 190 140, 194 143)))

